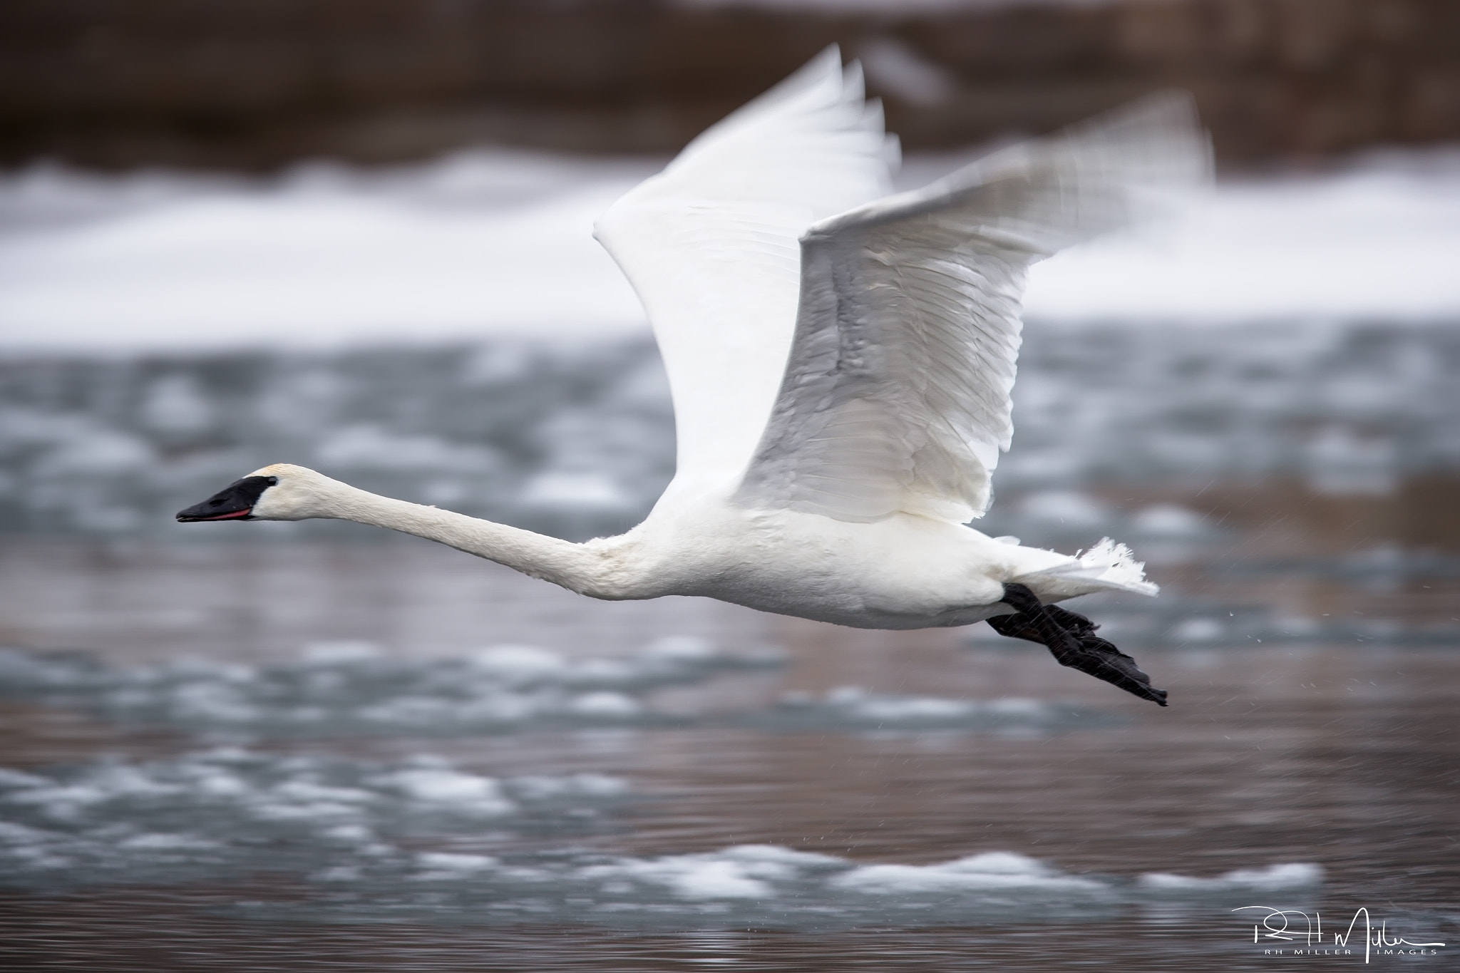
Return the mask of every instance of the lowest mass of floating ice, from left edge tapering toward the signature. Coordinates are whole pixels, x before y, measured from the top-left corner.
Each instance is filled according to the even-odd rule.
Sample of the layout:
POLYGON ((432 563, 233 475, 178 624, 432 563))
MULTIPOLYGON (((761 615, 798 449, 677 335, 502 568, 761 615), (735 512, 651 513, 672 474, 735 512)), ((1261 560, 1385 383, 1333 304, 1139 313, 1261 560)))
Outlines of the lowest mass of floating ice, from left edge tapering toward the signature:
MULTIPOLYGON (((599 773, 491 778, 418 754, 396 763, 215 747, 171 760, 0 770, 0 884, 289 877, 307 909, 695 928, 927 925, 1040 907, 1318 884, 1314 865, 1221 878, 1077 875, 1025 855, 861 864, 774 845, 618 855, 594 836, 635 799, 599 773)), ((291 909, 299 907, 291 904, 291 909)))

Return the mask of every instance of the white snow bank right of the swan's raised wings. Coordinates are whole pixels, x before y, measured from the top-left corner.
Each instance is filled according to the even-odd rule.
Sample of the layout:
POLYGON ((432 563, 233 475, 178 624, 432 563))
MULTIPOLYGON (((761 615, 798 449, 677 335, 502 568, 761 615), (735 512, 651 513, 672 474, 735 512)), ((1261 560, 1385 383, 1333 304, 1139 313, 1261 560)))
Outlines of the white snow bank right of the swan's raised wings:
POLYGON ((1037 265, 1025 311, 1054 321, 1426 321, 1460 314, 1460 155, 1238 181, 1162 235, 1037 265))

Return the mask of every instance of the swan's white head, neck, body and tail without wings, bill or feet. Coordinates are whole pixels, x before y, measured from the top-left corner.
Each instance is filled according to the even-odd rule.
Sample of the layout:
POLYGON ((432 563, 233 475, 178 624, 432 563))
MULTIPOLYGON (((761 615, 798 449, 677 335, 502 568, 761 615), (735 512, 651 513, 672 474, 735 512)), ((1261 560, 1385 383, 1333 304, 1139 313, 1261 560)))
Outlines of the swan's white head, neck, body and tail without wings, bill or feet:
POLYGON ((1155 594, 1140 566, 1108 544, 1073 559, 912 513, 850 524, 746 509, 727 490, 661 500, 628 534, 574 544, 375 496, 304 467, 277 464, 253 476, 279 478, 253 508, 257 519, 372 524, 594 598, 705 595, 860 629, 924 629, 1012 611, 999 601, 1006 581, 1029 585, 1042 601, 1107 589, 1155 594))

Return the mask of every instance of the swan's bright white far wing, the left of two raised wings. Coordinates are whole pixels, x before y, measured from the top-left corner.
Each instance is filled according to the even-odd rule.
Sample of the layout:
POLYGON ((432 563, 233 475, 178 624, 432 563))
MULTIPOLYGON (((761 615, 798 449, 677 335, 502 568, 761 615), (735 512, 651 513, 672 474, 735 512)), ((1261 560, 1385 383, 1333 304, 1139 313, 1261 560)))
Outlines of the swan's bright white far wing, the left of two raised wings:
POLYGON ((895 143, 828 48, 708 128, 594 228, 648 311, 682 478, 734 481, 771 416, 807 226, 889 188, 895 143))

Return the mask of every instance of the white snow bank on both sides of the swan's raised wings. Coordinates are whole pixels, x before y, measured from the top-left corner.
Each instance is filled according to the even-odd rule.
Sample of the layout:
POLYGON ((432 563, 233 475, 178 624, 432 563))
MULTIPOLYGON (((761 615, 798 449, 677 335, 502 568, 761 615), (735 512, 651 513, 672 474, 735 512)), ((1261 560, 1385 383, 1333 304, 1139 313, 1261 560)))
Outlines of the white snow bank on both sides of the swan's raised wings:
MULTIPOLYGON (((273 181, 32 166, 0 178, 0 349, 639 334, 638 301, 591 225, 658 165, 479 150, 273 181)), ((1460 155, 1393 155, 1226 182, 1180 225, 1040 264, 1026 311, 1429 321, 1460 314, 1457 255, 1460 155)), ((190 392, 158 391, 162 425, 190 392)))

